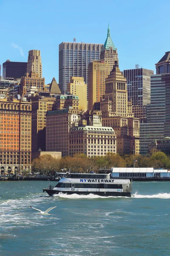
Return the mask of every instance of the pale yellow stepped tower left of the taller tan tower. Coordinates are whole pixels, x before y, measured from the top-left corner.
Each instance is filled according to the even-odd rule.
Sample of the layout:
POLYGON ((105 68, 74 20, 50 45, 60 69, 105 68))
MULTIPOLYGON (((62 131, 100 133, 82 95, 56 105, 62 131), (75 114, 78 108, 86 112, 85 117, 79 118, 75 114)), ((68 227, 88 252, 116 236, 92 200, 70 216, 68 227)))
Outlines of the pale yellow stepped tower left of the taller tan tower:
POLYGON ((70 83, 67 85, 67 90, 71 94, 74 94, 79 97, 79 109, 86 111, 87 110, 87 84, 84 82, 83 77, 71 76, 70 83))

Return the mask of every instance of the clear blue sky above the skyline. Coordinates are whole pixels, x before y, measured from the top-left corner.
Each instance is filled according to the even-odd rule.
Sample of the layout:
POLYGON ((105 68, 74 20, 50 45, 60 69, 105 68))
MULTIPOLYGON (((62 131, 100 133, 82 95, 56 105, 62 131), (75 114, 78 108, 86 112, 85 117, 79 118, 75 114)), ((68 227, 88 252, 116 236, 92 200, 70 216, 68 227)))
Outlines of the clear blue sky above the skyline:
POLYGON ((0 0, 0 64, 41 50, 45 84, 58 81, 62 41, 104 44, 108 22, 120 70, 152 69, 170 51, 170 0, 0 0))

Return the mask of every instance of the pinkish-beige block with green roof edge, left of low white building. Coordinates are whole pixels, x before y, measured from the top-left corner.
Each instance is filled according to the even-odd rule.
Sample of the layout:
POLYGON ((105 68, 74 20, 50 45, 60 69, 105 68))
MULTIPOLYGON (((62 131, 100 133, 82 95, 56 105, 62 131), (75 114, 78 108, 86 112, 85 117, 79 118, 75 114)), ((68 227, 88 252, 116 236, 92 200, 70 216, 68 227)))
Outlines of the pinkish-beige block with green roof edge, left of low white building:
MULTIPOLYGON (((67 108, 48 111, 46 116, 46 151, 59 151, 62 152, 62 157, 68 156, 68 133, 72 125, 78 125, 79 119, 79 110, 67 108)), ((76 144, 74 146, 76 147, 76 144)))

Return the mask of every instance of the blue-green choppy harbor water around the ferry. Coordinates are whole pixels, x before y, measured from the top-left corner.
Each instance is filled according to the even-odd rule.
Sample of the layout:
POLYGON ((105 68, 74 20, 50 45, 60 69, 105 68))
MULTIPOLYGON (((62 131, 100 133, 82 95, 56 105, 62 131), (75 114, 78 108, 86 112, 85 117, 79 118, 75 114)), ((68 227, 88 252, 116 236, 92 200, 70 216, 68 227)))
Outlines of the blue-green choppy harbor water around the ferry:
POLYGON ((0 182, 0 256, 170 255, 170 182, 133 182, 134 198, 51 198, 47 186, 0 182))

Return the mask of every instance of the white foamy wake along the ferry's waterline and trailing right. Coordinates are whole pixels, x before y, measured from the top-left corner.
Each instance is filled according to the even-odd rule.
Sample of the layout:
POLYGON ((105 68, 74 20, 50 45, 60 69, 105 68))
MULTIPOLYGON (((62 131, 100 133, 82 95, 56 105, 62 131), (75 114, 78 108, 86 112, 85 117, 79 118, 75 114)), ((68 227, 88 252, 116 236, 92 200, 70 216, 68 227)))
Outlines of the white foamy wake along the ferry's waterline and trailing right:
MULTIPOLYGON (((138 195, 138 192, 136 192, 133 195, 134 195, 134 197, 131 197, 131 198, 161 198, 161 199, 169 199, 170 198, 170 193, 158 193, 158 194, 155 194, 155 195, 138 195)), ((63 193, 53 195, 53 197, 68 198, 68 199, 130 198, 130 197, 126 197, 126 196, 100 196, 100 195, 94 195, 94 194, 89 194, 89 195, 78 195, 78 194, 67 195, 67 194, 63 194, 63 193)))

